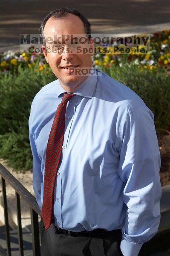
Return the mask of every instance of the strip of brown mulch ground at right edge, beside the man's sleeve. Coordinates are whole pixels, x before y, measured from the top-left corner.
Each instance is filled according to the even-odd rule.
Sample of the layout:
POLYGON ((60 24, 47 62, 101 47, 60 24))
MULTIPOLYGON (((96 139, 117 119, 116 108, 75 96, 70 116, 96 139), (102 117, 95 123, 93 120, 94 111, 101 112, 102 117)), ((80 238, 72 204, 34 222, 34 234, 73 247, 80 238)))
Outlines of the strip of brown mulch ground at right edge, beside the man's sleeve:
POLYGON ((170 131, 159 130, 157 136, 161 152, 161 186, 165 186, 170 184, 170 131))

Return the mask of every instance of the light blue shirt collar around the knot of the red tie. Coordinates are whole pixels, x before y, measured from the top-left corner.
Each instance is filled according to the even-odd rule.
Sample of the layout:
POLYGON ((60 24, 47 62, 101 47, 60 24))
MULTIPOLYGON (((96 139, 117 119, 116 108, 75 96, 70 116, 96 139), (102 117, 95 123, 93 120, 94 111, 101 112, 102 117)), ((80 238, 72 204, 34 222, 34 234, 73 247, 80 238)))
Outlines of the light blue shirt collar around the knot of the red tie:
MULTIPOLYGON (((63 93, 66 92, 66 90, 63 89, 59 80, 57 80, 57 82, 58 82, 57 96, 61 98, 63 96, 63 93)), ((95 72, 95 76, 90 74, 88 78, 73 93, 83 97, 92 98, 92 95, 95 91, 96 84, 97 84, 97 75, 95 72)))

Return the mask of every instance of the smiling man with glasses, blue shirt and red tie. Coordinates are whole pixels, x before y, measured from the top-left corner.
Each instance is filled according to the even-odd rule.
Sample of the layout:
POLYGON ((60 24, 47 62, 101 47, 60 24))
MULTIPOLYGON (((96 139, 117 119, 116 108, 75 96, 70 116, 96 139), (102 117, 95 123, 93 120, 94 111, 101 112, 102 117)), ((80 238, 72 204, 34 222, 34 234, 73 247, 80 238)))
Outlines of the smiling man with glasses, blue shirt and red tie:
POLYGON ((37 93, 29 118, 43 254, 137 256, 160 221, 153 113, 105 73, 75 74, 92 68, 94 51, 90 24, 78 11, 49 13, 40 31, 48 39, 88 38, 86 54, 62 37, 42 46, 58 77, 37 93))

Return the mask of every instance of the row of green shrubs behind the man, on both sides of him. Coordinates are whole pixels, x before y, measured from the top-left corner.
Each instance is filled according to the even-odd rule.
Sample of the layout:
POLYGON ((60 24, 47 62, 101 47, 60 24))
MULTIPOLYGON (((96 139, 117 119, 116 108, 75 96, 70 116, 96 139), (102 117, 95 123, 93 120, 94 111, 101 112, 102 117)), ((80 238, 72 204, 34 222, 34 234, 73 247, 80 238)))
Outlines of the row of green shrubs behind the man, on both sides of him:
MULTIPOLYGON (((123 64, 104 67, 104 72, 129 86, 144 100, 155 115, 156 128, 170 127, 170 75, 148 69, 140 71, 135 65, 123 64)), ((6 74, 0 80, 0 158, 6 159, 14 169, 27 170, 32 167, 29 146, 28 119, 35 94, 56 78, 49 69, 18 70, 13 77, 6 74)))

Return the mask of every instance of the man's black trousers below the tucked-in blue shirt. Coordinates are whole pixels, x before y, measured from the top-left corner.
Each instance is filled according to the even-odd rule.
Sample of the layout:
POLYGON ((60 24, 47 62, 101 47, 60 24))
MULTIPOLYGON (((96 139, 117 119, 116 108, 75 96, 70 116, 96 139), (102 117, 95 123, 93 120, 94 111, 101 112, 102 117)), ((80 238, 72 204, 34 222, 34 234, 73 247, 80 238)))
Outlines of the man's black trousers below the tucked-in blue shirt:
POLYGON ((40 221, 42 256, 123 256, 120 249, 121 230, 104 238, 61 234, 54 224, 45 230, 40 221))

